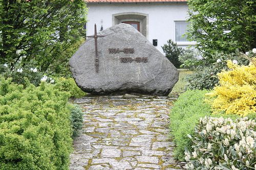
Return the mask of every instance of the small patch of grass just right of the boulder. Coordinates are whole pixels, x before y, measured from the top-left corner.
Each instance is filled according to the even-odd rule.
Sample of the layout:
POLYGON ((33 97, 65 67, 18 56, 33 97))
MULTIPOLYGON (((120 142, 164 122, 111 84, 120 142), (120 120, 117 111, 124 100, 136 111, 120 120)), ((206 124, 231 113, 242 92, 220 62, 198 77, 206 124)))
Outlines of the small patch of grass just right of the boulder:
POLYGON ((170 92, 169 95, 177 95, 179 93, 182 93, 185 91, 185 85, 186 85, 186 81, 184 80, 184 78, 188 75, 191 75, 194 73, 194 71, 188 70, 188 69, 178 69, 180 71, 179 74, 179 80, 178 82, 175 84, 172 92, 170 92))

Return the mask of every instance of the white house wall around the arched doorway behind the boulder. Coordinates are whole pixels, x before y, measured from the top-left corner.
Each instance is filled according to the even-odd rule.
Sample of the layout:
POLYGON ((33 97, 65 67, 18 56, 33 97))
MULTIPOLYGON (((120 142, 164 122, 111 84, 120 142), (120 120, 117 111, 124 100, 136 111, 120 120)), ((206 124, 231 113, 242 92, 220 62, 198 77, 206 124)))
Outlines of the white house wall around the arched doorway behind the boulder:
MULTIPOLYGON (((153 43, 153 39, 158 40, 156 46, 163 53, 161 46, 168 39, 175 41, 175 21, 184 21, 187 18, 188 7, 186 3, 89 3, 88 4, 87 35, 94 34, 94 23, 97 31, 100 30, 101 20, 103 29, 113 25, 112 15, 124 12, 139 12, 148 14, 147 39, 153 43)), ((187 42, 177 43, 178 45, 188 45, 187 42)))

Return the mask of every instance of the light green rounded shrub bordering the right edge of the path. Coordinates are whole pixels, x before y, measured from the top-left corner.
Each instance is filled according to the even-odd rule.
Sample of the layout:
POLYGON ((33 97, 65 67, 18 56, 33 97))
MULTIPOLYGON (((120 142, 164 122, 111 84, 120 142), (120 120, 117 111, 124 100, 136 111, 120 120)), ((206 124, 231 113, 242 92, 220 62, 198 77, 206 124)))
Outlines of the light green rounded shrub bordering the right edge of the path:
MULTIPOLYGON (((207 90, 188 90, 179 96, 170 112, 170 129, 176 143, 174 154, 176 159, 184 160, 185 148, 191 151, 191 140, 187 134, 193 135, 200 117, 211 115, 210 105, 204 102, 207 90)), ((216 114, 215 116, 226 116, 216 114)), ((237 116, 234 116, 236 118, 237 116)))

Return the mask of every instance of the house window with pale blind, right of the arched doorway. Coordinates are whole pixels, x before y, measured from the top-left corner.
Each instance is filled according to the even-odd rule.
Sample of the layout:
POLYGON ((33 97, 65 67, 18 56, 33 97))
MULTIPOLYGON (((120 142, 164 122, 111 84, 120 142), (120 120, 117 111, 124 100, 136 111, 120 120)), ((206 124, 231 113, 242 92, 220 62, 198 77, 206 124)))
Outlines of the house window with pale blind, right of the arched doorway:
POLYGON ((188 29, 189 22, 175 21, 175 40, 176 42, 186 42, 187 36, 184 35, 188 29))

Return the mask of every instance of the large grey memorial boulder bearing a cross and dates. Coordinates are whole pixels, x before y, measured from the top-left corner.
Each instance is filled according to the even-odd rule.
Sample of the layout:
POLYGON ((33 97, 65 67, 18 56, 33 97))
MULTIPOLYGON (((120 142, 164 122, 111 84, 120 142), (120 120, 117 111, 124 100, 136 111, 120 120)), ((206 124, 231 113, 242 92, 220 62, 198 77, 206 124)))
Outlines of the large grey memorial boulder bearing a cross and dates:
POLYGON ((70 59, 70 69, 78 87, 93 94, 169 94, 178 81, 178 70, 140 32, 121 23, 98 34, 105 35, 98 38, 98 72, 94 38, 88 38, 70 59), (112 54, 109 48, 133 48, 134 53, 112 54), (121 62, 121 58, 138 57, 144 60, 121 62))

